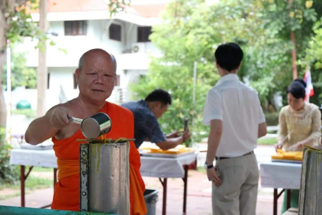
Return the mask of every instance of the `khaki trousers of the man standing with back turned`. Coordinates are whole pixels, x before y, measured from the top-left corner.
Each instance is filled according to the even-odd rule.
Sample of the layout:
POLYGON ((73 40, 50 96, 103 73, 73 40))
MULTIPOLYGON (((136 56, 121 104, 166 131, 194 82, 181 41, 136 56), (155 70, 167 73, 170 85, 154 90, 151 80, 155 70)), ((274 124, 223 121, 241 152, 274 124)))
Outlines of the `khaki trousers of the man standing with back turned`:
POLYGON ((255 215, 259 171, 254 153, 216 161, 222 184, 212 186, 213 215, 255 215))

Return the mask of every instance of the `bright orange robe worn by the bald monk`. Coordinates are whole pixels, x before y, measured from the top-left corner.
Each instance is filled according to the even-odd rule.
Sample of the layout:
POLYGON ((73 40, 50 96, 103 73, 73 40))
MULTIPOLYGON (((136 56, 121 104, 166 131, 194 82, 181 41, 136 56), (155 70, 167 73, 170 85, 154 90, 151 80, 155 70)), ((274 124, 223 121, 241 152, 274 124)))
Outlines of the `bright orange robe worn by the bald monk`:
MULTIPOLYGON (((104 107, 98 112, 105 112, 112 121, 112 127, 105 138, 118 139, 120 137, 134 137, 134 120, 131 111, 116 104, 106 102, 104 107)), ((80 143, 76 139, 84 139, 81 130, 74 135, 63 140, 52 138, 53 149, 57 157, 59 181, 55 184, 54 196, 52 200, 52 209, 79 211, 79 147, 80 143), (63 162, 62 162, 63 161, 63 162), (70 163, 70 169, 66 171, 66 163, 70 163), (60 168, 60 164, 64 167, 60 168), (78 167, 77 167, 78 166, 78 167), (60 172, 61 169, 61 172, 60 172)), ((134 142, 130 142, 129 162, 133 167, 137 181, 142 193, 145 191, 145 185, 140 173, 140 154, 137 151, 134 142)), ((140 191, 140 193, 141 193, 140 191)), ((137 193, 135 193, 137 195, 137 193)), ((130 207, 133 212, 133 193, 130 185, 130 207)))

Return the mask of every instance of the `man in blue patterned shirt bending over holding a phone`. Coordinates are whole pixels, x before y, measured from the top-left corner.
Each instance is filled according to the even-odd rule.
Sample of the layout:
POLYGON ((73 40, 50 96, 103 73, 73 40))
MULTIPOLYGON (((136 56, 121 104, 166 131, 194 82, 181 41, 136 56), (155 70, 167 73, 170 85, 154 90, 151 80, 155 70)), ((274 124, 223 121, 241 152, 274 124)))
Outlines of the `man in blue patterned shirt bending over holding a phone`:
POLYGON ((134 115, 134 138, 135 146, 139 148, 143 141, 156 143, 162 150, 176 147, 190 138, 191 134, 187 128, 182 135, 173 132, 165 135, 157 121, 171 104, 171 96, 162 89, 154 90, 148 94, 145 100, 121 104, 133 112, 134 115))

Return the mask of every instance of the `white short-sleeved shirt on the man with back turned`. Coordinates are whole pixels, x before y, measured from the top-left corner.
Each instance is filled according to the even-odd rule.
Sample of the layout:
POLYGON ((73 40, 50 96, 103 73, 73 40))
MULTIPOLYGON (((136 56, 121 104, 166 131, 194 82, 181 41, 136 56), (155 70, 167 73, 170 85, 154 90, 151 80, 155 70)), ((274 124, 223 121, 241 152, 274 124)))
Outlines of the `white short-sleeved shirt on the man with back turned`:
POLYGON ((237 74, 224 75, 208 92, 204 124, 223 121, 217 157, 238 157, 257 147, 258 125, 265 122, 257 92, 239 81, 237 74))

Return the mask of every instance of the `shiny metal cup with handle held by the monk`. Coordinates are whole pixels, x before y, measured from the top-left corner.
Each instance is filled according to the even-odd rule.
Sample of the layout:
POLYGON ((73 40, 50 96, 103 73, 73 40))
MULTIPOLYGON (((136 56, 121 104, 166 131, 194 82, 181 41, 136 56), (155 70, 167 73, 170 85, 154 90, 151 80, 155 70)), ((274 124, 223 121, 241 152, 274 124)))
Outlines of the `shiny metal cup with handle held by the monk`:
POLYGON ((68 117, 68 119, 72 123, 80 124, 81 132, 88 139, 95 139, 100 135, 106 134, 112 127, 111 118, 103 112, 95 113, 83 120, 75 117, 68 117))

